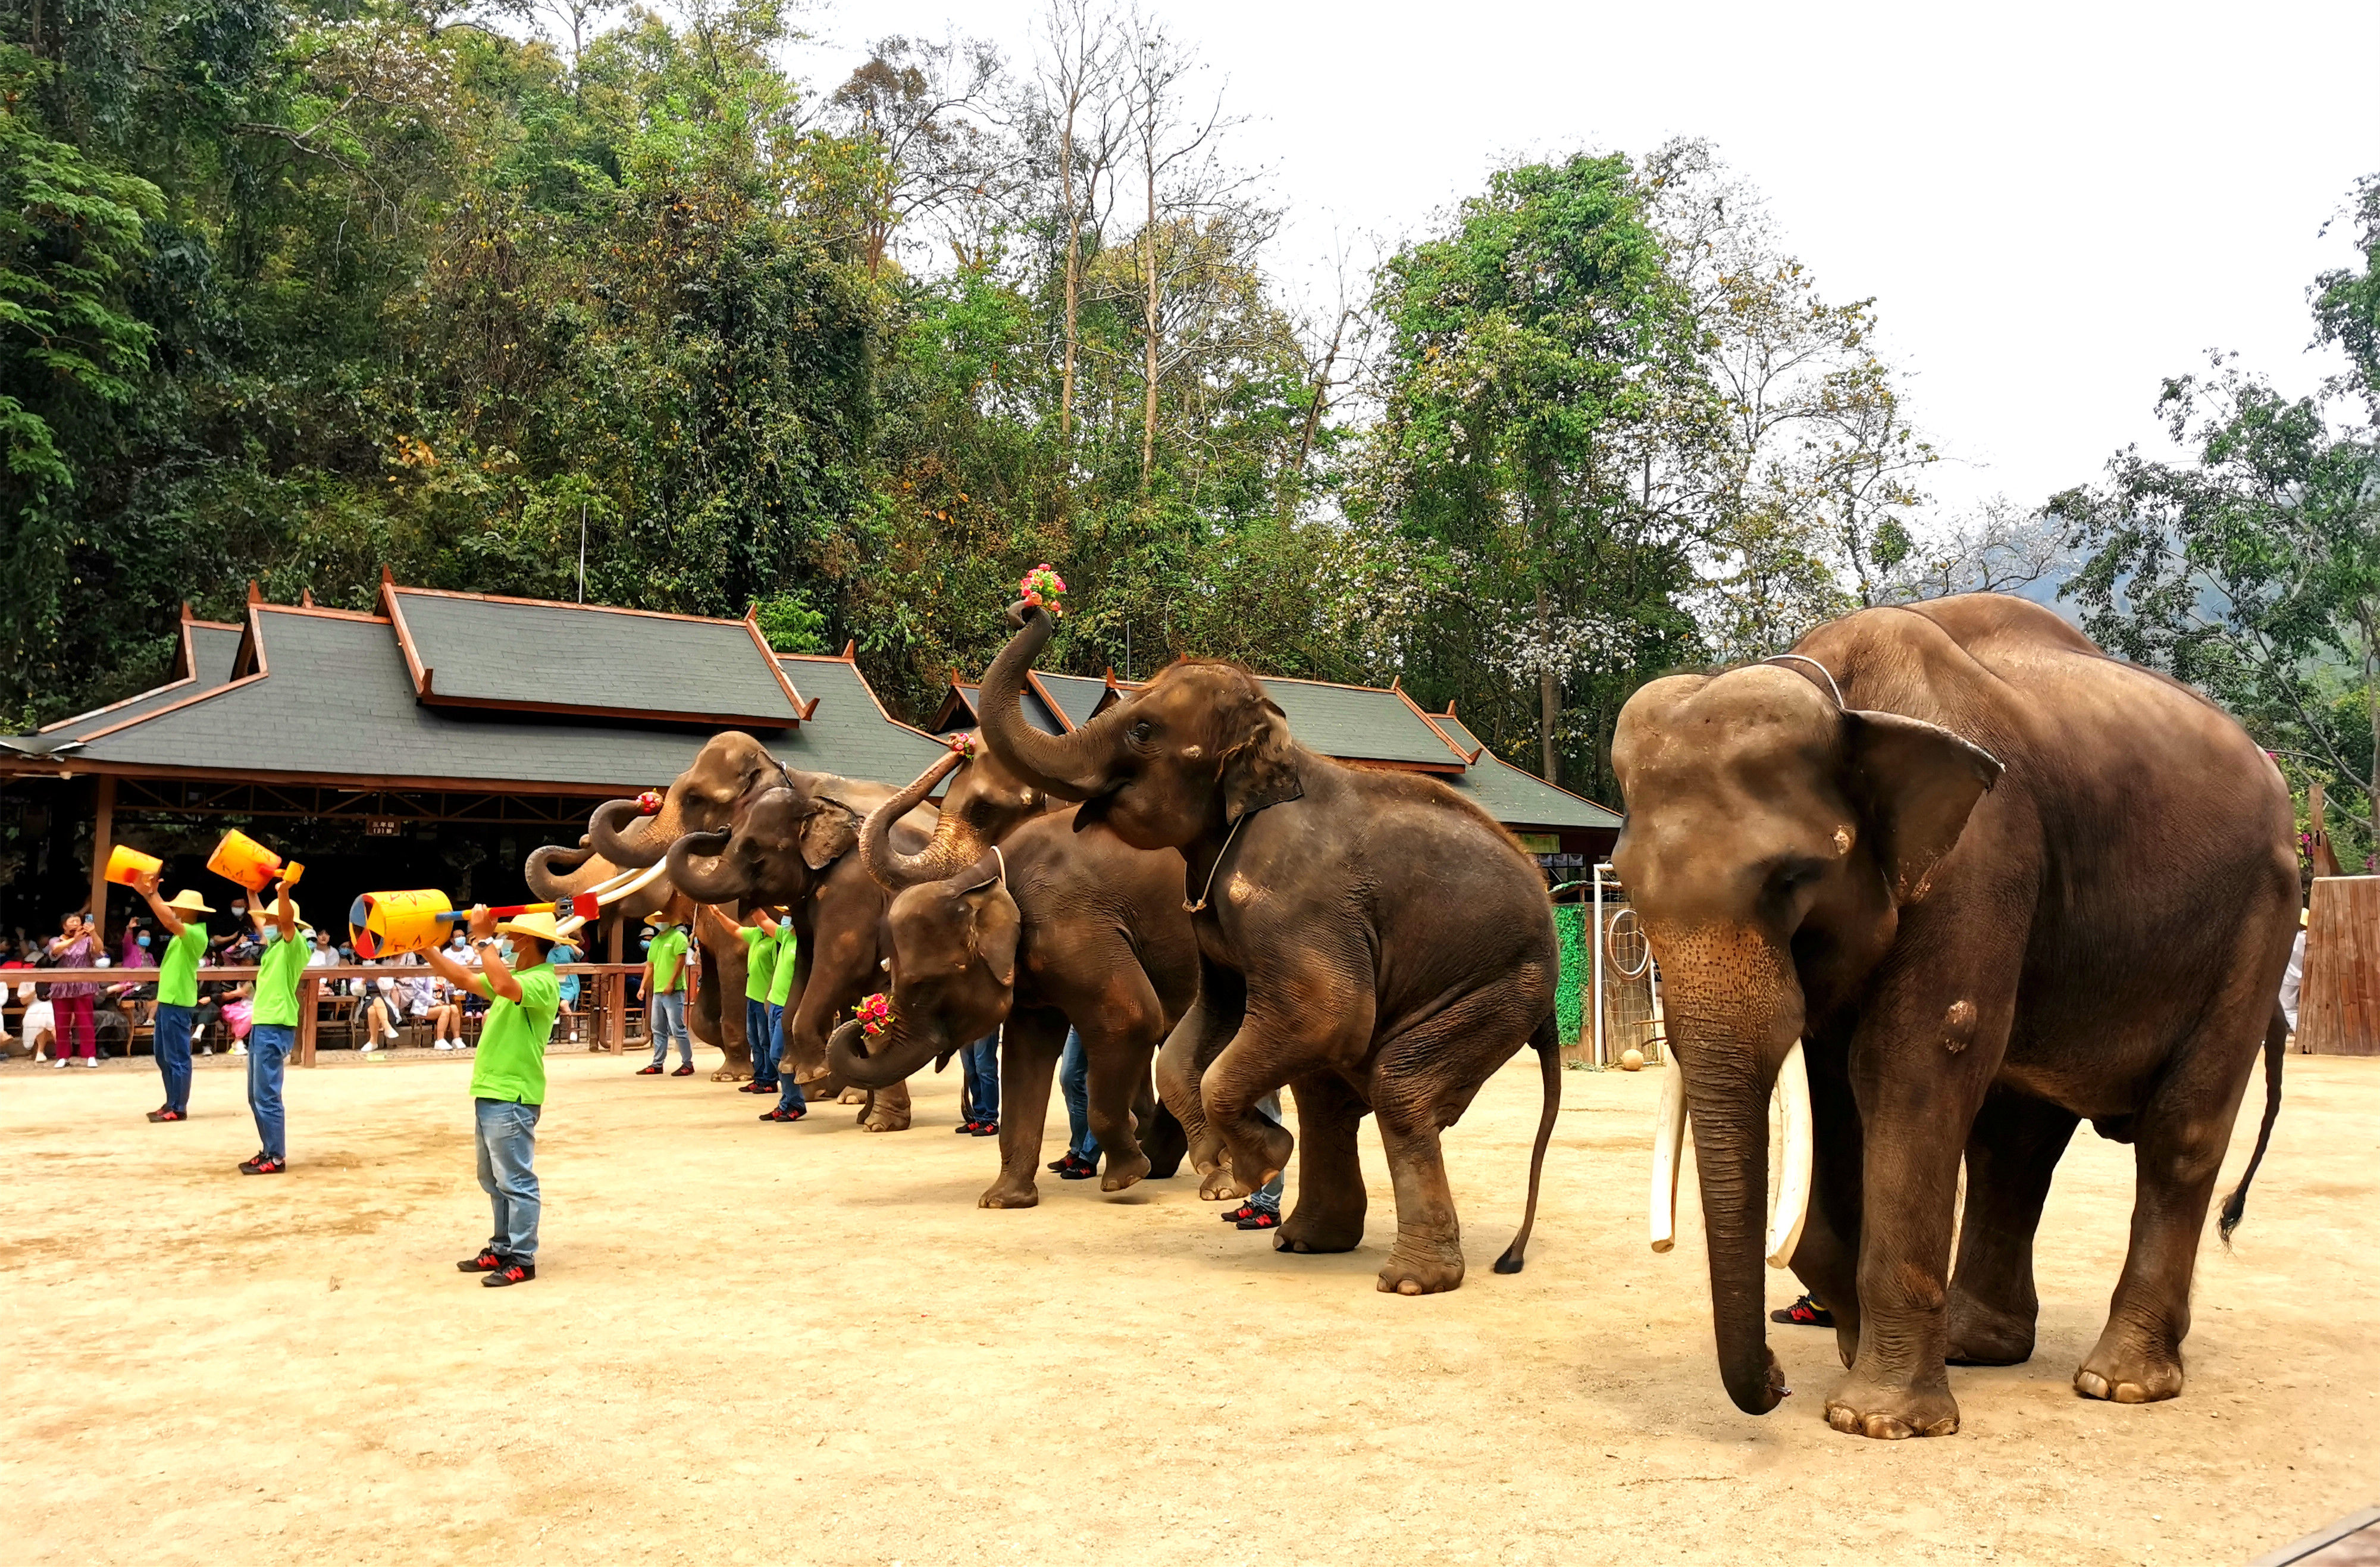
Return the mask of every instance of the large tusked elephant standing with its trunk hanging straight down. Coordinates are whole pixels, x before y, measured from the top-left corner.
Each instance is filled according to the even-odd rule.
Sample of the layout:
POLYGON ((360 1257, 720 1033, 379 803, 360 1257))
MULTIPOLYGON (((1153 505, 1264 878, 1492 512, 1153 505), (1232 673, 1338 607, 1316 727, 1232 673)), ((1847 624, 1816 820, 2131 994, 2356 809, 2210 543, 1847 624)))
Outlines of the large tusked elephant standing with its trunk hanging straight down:
POLYGON ((2080 1119, 2135 1145, 2137 1198, 2075 1388, 2180 1393, 2199 1226, 2259 1043, 2278 1093, 2297 855, 2271 757, 2187 686, 1978 593, 1656 679, 1621 710, 1611 767, 1614 867, 1678 1062, 1654 1246, 1690 1115, 1735 1405, 1785 1391, 1761 1319, 1773 1086, 1795 1203, 1766 1253, 1835 1312, 1830 1426, 1952 1434, 1947 1365, 2033 1355, 2033 1234, 2080 1119))

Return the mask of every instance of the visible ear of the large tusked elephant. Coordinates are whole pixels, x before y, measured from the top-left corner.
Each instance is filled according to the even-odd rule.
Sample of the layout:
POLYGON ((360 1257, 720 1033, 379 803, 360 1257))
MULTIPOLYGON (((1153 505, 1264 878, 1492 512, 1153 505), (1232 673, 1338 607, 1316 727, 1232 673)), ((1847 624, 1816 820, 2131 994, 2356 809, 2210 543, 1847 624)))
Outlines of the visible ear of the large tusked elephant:
POLYGON ((1968 812, 2002 774, 1999 757, 1940 724, 1847 710, 1844 786, 1894 903, 1925 895, 1933 867, 1959 843, 1968 812))

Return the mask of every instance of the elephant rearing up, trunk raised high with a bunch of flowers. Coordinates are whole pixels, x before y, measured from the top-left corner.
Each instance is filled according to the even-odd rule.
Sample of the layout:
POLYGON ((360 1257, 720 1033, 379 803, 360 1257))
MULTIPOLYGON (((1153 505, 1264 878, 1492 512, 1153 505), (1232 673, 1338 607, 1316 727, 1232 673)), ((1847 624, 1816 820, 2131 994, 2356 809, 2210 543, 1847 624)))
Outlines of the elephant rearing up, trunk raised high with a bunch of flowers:
POLYGON ((1295 743, 1238 664, 1176 662, 1081 729, 1040 733, 1019 693, 1052 619, 1014 605, 1009 624, 1016 633, 983 676, 992 755, 1081 800, 1076 831, 1107 824, 1133 848, 1183 853, 1200 993, 1159 1053, 1157 1088, 1209 1176, 1202 1195, 1238 1198, 1280 1174, 1292 1138, 1257 1100, 1290 1086, 1304 1157, 1273 1246, 1354 1250, 1366 1205, 1357 1126, 1378 1115, 1397 1188, 1380 1288, 1457 1288, 1461 1226, 1438 1134, 1526 1041, 1545 1115, 1528 1215, 1497 1262, 1518 1272, 1561 1107, 1561 957, 1537 864, 1445 784, 1295 743))

